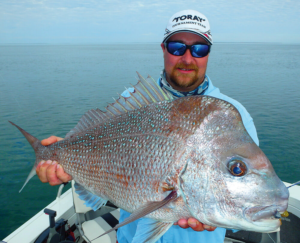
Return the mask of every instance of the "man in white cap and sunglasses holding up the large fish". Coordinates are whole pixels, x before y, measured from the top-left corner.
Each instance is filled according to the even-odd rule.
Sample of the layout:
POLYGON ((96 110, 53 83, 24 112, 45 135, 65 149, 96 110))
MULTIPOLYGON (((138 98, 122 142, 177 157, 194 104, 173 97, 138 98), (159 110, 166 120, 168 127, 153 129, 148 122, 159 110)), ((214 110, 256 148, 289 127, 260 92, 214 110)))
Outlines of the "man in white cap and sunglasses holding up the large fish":
MULTIPOLYGON (((169 20, 161 48, 164 53, 164 70, 158 78, 158 84, 164 86, 173 96, 210 95, 232 103, 241 113, 248 133, 258 144, 256 129, 246 109, 237 101, 220 93, 205 74, 212 42, 211 32, 206 17, 195 10, 183 10, 175 13, 169 20)), ((122 93, 129 96, 129 92, 122 93)), ((49 145, 59 137, 51 136, 42 141, 49 145)), ((42 182, 51 185, 67 182, 71 177, 64 173, 56 161, 41 161, 37 174, 42 182)), ((130 214, 121 210, 120 221, 130 214)), ((180 219, 158 242, 223 242, 225 229, 200 223, 196 219, 180 219), (180 227, 179 227, 180 226, 180 227), (206 231, 199 233, 197 231, 206 231)), ((137 221, 122 226, 117 232, 119 243, 131 242, 137 228, 137 221)))

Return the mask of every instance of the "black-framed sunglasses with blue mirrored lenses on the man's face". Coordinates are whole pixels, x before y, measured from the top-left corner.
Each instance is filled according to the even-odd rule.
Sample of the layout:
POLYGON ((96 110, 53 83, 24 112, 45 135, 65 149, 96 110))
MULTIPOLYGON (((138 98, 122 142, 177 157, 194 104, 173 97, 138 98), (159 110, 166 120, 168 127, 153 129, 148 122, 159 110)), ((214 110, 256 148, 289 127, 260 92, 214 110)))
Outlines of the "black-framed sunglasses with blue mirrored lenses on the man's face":
POLYGON ((170 54, 176 56, 182 56, 187 49, 190 49, 190 54, 193 57, 205 57, 211 49, 211 45, 207 44, 186 45, 177 41, 166 42, 165 46, 170 54))

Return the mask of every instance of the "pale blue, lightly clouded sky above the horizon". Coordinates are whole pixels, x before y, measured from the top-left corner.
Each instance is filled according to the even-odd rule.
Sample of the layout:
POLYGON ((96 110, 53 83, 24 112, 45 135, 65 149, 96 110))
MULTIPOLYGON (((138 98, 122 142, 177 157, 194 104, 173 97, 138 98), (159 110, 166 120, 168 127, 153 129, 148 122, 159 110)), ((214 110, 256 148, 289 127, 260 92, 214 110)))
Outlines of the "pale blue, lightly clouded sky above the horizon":
POLYGON ((300 43, 299 0, 0 0, 0 44, 161 42, 184 9, 214 42, 300 43))

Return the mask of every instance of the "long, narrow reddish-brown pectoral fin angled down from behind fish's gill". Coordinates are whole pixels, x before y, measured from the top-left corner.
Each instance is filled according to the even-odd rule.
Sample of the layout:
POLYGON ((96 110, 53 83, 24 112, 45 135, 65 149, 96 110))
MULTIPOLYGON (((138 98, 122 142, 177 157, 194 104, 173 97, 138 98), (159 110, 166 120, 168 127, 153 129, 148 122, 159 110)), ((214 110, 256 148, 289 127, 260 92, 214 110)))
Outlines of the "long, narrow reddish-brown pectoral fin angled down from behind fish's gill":
MULTIPOLYGON (((164 200, 162 200, 160 202, 145 202, 145 203, 143 203, 143 205, 141 205, 139 208, 137 208, 137 210, 134 213, 130 214, 129 217, 125 218, 125 220, 123 222, 117 224, 114 228, 108 230, 107 232, 103 233, 102 235, 105 235, 115 229, 120 228, 123 225, 126 225, 128 223, 133 222, 134 220, 144 217, 147 214, 152 213, 153 211, 157 210, 158 208, 161 208, 162 206, 168 204, 169 202, 172 202, 176 198, 177 198, 177 192, 176 192, 176 190, 173 190, 164 200)), ((156 221, 156 222, 158 222, 158 221, 156 221)), ((158 222, 158 223, 161 223, 161 222, 158 222)), ((172 224, 173 223, 171 223, 171 225, 172 224)), ((102 235, 98 236, 97 238, 101 237, 102 235)))

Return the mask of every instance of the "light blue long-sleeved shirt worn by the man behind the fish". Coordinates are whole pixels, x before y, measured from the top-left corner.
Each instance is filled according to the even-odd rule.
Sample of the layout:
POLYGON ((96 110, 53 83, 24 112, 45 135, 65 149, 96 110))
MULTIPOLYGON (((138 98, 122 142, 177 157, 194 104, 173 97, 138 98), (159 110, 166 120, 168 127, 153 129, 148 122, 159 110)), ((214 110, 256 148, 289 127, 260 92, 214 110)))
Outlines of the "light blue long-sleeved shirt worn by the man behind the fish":
MULTIPOLYGON (((207 76, 208 78, 208 76, 207 76)), ((160 78, 158 79, 158 84, 160 84, 160 78)), ((134 89, 129 89, 130 92, 133 92, 134 89)), ((223 95, 220 93, 219 88, 214 87, 211 80, 208 78, 208 88, 205 91, 204 95, 213 96, 215 98, 219 98, 225 101, 228 101, 232 105, 234 105, 239 113, 241 114, 241 118, 243 121, 243 124, 249 133, 250 137, 253 139, 253 141, 259 145, 256 128, 253 123, 253 119, 251 118, 250 114, 247 112, 245 107, 243 107, 238 101, 223 95)), ((129 97, 130 94, 126 90, 122 93, 122 96, 129 97)), ((126 217, 128 217, 130 213, 120 210, 120 220, 119 222, 124 221, 126 217)), ((136 229, 137 229, 137 223, 139 220, 136 220, 132 223, 129 223, 125 226, 122 226, 117 231, 117 239, 119 243, 131 243, 136 229)), ((178 225, 173 225, 170 227, 170 229, 167 230, 167 232, 157 241, 157 243, 223 243, 225 238, 226 229, 224 228, 216 228, 214 231, 207 231, 204 230, 202 232, 194 231, 191 228, 182 229, 178 225)))

